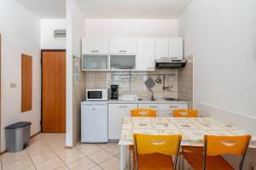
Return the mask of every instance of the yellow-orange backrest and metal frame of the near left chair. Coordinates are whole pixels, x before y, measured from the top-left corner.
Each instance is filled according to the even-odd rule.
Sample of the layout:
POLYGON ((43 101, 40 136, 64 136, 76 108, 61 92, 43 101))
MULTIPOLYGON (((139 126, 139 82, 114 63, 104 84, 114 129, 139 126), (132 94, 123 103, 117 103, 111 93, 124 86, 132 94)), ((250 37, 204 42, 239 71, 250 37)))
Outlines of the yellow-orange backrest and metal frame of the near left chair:
MULTIPOLYGON (((177 157, 182 136, 134 134, 136 164, 138 155, 160 153, 166 156, 175 156, 174 168, 177 167, 177 157)), ((152 160, 154 161, 154 160, 152 160)))

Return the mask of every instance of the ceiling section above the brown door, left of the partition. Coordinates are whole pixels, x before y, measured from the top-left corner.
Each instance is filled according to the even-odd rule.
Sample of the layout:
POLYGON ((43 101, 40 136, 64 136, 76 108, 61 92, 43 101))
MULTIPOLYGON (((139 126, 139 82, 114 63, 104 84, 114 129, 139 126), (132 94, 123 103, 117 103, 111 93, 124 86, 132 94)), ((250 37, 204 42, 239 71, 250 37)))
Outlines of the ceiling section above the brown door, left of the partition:
POLYGON ((65 0, 16 0, 41 19, 65 19, 65 0))

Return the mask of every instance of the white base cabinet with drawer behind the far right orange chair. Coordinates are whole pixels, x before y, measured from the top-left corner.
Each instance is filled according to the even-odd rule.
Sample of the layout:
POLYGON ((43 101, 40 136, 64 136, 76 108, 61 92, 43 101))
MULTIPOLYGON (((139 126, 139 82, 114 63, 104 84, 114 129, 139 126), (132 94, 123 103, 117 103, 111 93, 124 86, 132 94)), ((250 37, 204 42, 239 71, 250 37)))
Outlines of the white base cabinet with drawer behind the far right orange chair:
POLYGON ((188 109, 188 104, 159 104, 158 106, 158 116, 172 116, 172 111, 175 109, 188 109))

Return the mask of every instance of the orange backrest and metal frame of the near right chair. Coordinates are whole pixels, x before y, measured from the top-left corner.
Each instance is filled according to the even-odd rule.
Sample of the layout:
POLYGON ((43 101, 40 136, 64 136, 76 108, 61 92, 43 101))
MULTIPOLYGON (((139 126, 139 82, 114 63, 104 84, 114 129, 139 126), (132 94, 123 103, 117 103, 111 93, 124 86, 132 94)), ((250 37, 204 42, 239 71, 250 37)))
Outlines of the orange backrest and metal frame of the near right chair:
POLYGON ((204 169, 206 167, 207 156, 221 156, 230 154, 234 156, 241 156, 240 169, 247 152, 248 144, 251 140, 251 135, 243 136, 205 136, 205 158, 204 169))

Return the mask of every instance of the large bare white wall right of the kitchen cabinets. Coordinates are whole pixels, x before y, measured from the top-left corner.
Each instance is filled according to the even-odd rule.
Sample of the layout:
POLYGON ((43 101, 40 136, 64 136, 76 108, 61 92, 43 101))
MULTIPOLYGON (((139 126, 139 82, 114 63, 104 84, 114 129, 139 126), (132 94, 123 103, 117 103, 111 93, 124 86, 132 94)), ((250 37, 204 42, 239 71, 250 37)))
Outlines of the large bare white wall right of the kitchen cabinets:
POLYGON ((195 108, 254 135, 255 9, 255 0, 193 0, 179 19, 184 54, 195 59, 195 108))

